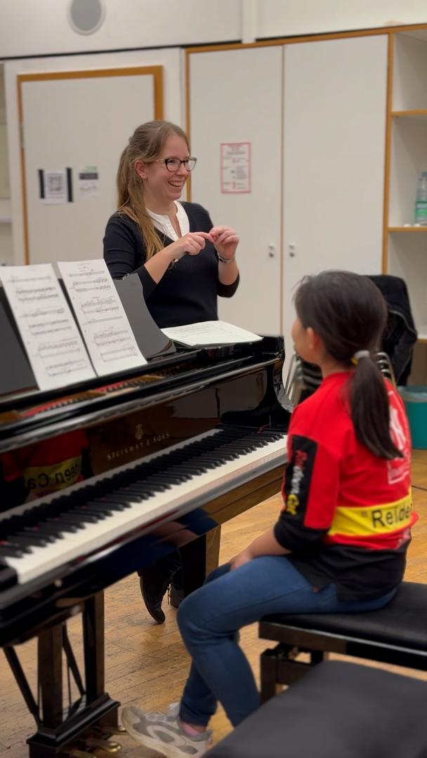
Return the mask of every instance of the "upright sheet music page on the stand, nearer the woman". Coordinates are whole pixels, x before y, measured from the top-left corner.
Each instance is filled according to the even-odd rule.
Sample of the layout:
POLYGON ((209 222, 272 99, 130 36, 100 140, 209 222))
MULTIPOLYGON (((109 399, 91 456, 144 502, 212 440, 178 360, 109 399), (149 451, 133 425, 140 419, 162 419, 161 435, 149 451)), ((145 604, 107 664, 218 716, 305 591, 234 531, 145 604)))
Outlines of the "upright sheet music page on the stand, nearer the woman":
POLYGON ((105 261, 62 261, 58 268, 96 373, 145 365, 105 261))

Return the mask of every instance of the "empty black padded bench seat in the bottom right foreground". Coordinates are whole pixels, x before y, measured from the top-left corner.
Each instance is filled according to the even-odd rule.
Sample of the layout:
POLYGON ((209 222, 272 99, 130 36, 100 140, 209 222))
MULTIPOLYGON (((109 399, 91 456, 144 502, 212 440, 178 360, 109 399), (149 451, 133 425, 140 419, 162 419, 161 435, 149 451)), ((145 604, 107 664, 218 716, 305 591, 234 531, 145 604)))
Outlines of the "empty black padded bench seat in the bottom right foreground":
POLYGON ((264 703, 206 758, 425 758, 427 683, 327 661, 264 703))

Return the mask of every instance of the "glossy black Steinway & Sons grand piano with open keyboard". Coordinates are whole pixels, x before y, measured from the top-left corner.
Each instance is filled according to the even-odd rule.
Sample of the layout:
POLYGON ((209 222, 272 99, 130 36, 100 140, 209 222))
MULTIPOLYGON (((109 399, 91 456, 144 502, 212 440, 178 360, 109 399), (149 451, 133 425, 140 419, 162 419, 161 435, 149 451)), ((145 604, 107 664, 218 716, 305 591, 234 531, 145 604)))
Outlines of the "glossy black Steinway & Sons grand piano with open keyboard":
POLYGON ((0 646, 36 721, 30 758, 84 755, 91 728, 120 729, 102 590, 186 544, 187 594, 203 582, 206 534, 280 490, 283 359, 281 337, 178 348, 120 376, 0 398, 0 646), (76 613, 82 673, 66 625, 76 613), (36 697, 16 649, 32 637, 36 697))

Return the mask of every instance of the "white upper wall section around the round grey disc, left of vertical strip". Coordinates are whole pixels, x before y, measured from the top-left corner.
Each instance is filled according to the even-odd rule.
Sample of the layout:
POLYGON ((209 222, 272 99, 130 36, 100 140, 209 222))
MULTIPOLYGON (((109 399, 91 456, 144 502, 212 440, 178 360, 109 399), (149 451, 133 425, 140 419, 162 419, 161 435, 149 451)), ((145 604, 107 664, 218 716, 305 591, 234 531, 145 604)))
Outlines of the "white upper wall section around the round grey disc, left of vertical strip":
POLYGON ((0 58, 240 39, 245 0, 103 0, 104 23, 89 35, 68 23, 70 2, 1 0, 0 58))

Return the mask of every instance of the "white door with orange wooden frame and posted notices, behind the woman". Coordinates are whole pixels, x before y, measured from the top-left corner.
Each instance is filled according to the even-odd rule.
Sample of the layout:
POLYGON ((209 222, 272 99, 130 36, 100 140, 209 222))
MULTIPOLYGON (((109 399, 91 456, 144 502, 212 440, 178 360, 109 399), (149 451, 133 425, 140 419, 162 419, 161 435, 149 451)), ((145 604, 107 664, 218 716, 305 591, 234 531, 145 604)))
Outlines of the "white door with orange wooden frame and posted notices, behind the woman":
POLYGON ((161 107, 162 92, 157 92, 155 100, 161 77, 160 67, 18 77, 24 135, 27 262, 102 257, 105 224, 117 207, 118 161, 135 127, 155 117, 155 102, 161 107), (90 167, 99 178, 88 193, 79 174, 90 167), (46 172, 66 168, 71 169, 72 202, 43 202, 39 171, 46 176, 46 172))

